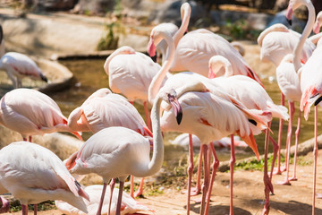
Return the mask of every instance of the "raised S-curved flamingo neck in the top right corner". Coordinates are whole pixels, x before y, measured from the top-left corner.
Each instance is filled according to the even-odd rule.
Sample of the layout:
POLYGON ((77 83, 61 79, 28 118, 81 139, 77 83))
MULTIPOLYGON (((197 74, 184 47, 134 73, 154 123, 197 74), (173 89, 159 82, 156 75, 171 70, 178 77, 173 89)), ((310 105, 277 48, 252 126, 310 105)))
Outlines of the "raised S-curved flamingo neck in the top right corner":
POLYGON ((305 28, 301 34, 301 38, 298 42, 298 44, 296 45, 296 47, 294 48, 294 68, 295 71, 298 72, 299 69, 301 68, 301 51, 304 47, 305 41, 306 39, 308 39, 309 37, 309 33, 310 31, 313 29, 313 25, 315 22, 315 9, 313 4, 310 1, 305 1, 305 5, 308 7, 309 10, 309 19, 307 24, 305 25, 305 28))

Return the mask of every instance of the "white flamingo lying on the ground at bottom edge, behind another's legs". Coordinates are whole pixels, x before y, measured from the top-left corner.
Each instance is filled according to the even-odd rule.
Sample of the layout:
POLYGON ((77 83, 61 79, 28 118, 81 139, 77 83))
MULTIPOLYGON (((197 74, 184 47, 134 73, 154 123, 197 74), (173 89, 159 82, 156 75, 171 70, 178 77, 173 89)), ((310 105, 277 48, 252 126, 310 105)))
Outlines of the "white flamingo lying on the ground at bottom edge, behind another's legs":
MULTIPOLYGON (((99 204, 99 196, 102 193, 103 185, 89 185, 85 187, 85 192, 89 194, 89 199, 91 200, 90 202, 85 201, 88 211, 88 214, 96 214, 97 212, 97 207, 99 204)), ((111 192, 109 187, 106 187, 106 197, 109 196, 109 193, 111 192)), ((113 190, 113 199, 117 199, 117 193, 119 193, 119 189, 114 188, 113 190)), ((108 211, 108 198, 104 199, 103 202, 103 208, 102 208, 102 213, 107 214, 108 211)), ((115 209, 116 209, 116 201, 113 201, 111 204, 111 214, 115 214, 115 209)), ((63 201, 55 201, 55 206, 58 208, 59 211, 62 211, 66 215, 73 215, 73 214, 78 214, 78 215, 85 215, 84 212, 80 211, 79 209, 73 207, 67 202, 63 201)), ((131 198, 131 196, 123 192, 122 194, 122 207, 121 207, 121 214, 135 214, 137 211, 153 211, 149 209, 147 206, 144 204, 135 201, 134 199, 131 198)))

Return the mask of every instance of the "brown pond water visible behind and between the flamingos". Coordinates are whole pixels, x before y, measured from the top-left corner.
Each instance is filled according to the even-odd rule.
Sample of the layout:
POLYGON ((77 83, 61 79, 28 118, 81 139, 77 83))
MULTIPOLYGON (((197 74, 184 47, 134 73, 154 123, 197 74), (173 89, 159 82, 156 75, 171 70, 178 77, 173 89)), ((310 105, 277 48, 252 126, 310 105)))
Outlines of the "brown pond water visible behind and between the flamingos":
MULTIPOLYGON (((59 91, 49 94, 52 97, 59 107, 61 107, 64 116, 69 116, 72 110, 75 107, 79 107, 82 102, 89 97, 94 91, 100 88, 108 87, 108 77, 103 69, 103 64, 105 59, 88 59, 88 60, 64 60, 60 62, 67 66, 72 73, 74 74, 74 80, 72 87, 68 90, 59 91)), ((272 80, 272 79, 271 79, 272 80)), ((274 80, 274 79, 273 79, 274 80)), ((275 101, 275 104, 280 104, 280 90, 275 81, 269 81, 269 78, 263 79, 266 90, 270 97, 275 101)), ((143 107, 134 103, 135 107, 138 108, 140 114, 144 117, 143 107)), ((293 119, 293 130, 296 129, 298 110, 295 113, 293 119)), ((309 116, 309 121, 305 121, 304 118, 301 121, 301 136, 300 142, 304 142, 314 135, 314 122, 313 116, 309 116)), ((277 142, 278 135, 278 120, 275 119, 272 123, 273 137, 277 142)), ((286 140, 286 131, 287 131, 287 122, 284 122, 284 136, 283 144, 286 140)), ((178 162, 187 158, 188 152, 183 150, 182 147, 172 145, 169 140, 175 138, 179 133, 165 133, 165 164, 172 166, 178 162)), ((84 133, 83 138, 87 140, 91 133, 84 133)), ((294 135, 293 140, 294 140, 294 135)), ((260 134, 255 137, 256 142, 258 143, 259 153, 264 152, 264 134, 260 134)), ((294 141, 292 142, 294 144, 294 141)), ((283 146, 284 148, 284 146, 283 146)), ((237 150, 239 153, 236 154, 237 159, 250 157, 253 155, 253 152, 250 149, 247 150, 237 150)), ((270 151, 272 147, 270 146, 270 151)), ((197 151, 196 151, 197 152, 197 151)), ((217 154, 221 161, 227 160, 230 158, 230 150, 217 150, 217 154)))

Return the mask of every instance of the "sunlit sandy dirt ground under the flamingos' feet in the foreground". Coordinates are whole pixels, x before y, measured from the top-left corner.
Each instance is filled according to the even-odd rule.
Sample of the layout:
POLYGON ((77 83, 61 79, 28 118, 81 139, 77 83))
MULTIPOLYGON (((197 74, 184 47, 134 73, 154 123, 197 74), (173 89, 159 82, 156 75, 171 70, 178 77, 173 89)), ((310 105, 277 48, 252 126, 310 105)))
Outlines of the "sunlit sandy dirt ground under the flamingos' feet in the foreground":
MULTIPOLYGON (((322 150, 319 150, 317 193, 322 193, 322 150)), ((313 156, 310 152, 301 157, 301 165, 298 166, 298 181, 293 181, 292 185, 276 185, 278 181, 284 179, 285 174, 273 177, 275 194, 270 195, 271 215, 292 214, 305 215, 311 214, 312 204, 312 178, 313 178, 313 156), (302 165, 303 163, 306 165, 302 165)), ((229 214, 229 173, 217 173, 209 214, 229 214)), ((291 174, 292 176, 292 168, 291 174)), ((234 174, 233 183, 233 210, 237 215, 261 214, 264 203, 263 173, 260 171, 237 170, 234 174)), ((199 198, 194 196, 191 199, 191 214, 199 214, 199 203, 193 202, 199 198)), ((154 209, 157 215, 179 215, 186 214, 186 194, 181 193, 173 187, 165 189, 164 193, 156 196, 146 196, 137 199, 148 207, 154 209)), ((316 199, 316 214, 322 214, 322 199, 316 199)), ((21 214, 6 213, 9 214, 21 214)), ((33 214, 30 211, 30 214, 33 214)), ((39 215, 61 215, 58 210, 39 211, 39 215)), ((153 213, 145 213, 153 214, 153 213)))

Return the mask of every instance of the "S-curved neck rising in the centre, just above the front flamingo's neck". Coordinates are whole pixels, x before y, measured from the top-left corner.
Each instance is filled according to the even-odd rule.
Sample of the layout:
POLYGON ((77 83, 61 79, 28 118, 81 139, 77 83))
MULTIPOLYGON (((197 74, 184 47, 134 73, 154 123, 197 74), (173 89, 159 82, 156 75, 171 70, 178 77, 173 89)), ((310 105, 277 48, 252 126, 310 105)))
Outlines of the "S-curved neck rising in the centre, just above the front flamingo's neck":
POLYGON ((160 90, 163 80, 165 79, 166 73, 169 71, 174 61, 174 40, 167 33, 160 32, 163 39, 168 45, 165 62, 163 62, 160 70, 153 77, 152 82, 148 87, 148 101, 153 104, 154 99, 157 97, 157 92, 160 90))

